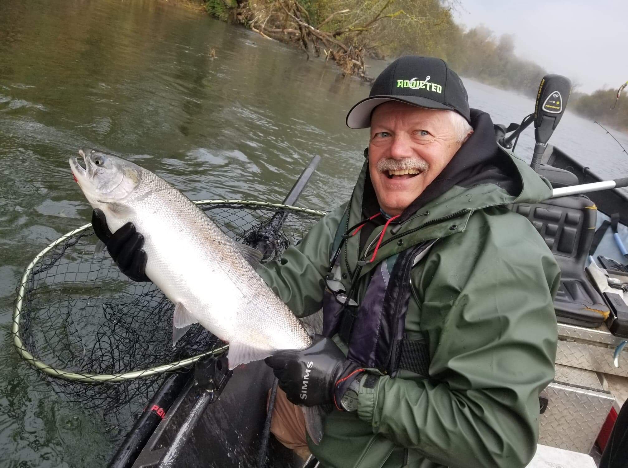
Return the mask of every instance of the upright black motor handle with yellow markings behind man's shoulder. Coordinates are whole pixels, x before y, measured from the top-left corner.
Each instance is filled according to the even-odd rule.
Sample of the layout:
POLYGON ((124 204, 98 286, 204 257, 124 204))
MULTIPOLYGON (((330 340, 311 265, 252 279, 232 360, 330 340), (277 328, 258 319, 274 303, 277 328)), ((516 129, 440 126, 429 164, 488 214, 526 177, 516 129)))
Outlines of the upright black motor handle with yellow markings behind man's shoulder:
POLYGON ((549 137, 565 113, 571 93, 571 80, 562 75, 545 75, 534 104, 534 154, 530 167, 538 171, 549 137))

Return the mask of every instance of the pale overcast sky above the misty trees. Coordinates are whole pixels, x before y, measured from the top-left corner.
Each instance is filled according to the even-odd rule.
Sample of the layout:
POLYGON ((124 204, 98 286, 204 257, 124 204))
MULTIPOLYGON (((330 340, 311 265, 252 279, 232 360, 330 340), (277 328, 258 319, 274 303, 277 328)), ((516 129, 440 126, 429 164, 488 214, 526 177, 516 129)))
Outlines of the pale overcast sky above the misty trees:
POLYGON ((460 0, 458 21, 515 36, 515 53, 580 92, 628 80, 628 0, 460 0))

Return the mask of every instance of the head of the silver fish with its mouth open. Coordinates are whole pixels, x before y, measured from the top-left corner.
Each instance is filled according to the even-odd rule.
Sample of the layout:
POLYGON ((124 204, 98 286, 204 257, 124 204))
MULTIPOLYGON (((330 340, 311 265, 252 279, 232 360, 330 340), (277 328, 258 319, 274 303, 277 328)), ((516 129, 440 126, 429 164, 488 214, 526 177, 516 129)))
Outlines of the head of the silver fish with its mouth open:
POLYGON ((102 209, 107 203, 121 203, 138 188, 141 168, 133 162, 88 148, 78 150, 78 154, 85 168, 76 157, 70 158, 70 168, 92 207, 102 209))

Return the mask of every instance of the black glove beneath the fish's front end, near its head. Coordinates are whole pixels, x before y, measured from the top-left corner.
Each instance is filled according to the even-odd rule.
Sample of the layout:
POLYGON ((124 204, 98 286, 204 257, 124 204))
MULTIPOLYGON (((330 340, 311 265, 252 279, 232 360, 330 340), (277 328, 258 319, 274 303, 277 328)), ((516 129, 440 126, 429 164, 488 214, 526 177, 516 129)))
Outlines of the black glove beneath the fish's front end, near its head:
POLYGON ((135 230, 133 223, 126 223, 112 234, 105 213, 96 209, 92 213, 92 227, 122 273, 134 281, 150 281, 144 272, 148 258, 142 250, 144 236, 135 230))

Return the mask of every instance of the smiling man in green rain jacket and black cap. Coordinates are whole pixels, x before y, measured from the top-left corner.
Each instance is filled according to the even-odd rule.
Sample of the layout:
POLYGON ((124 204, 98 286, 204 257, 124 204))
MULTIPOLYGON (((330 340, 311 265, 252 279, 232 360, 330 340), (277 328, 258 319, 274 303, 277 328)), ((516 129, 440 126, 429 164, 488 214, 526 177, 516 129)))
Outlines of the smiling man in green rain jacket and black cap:
MULTIPOLYGON (((323 307, 311 348, 266 359, 284 398, 333 405, 309 449, 324 467, 524 467, 554 375, 560 270, 507 205, 549 198, 548 184, 499 149, 436 58, 391 63, 347 125, 371 127, 350 200, 258 270, 297 316, 323 307)), ((143 274, 129 231, 112 247, 143 274)), ((278 408, 290 441, 300 412, 278 408)))

